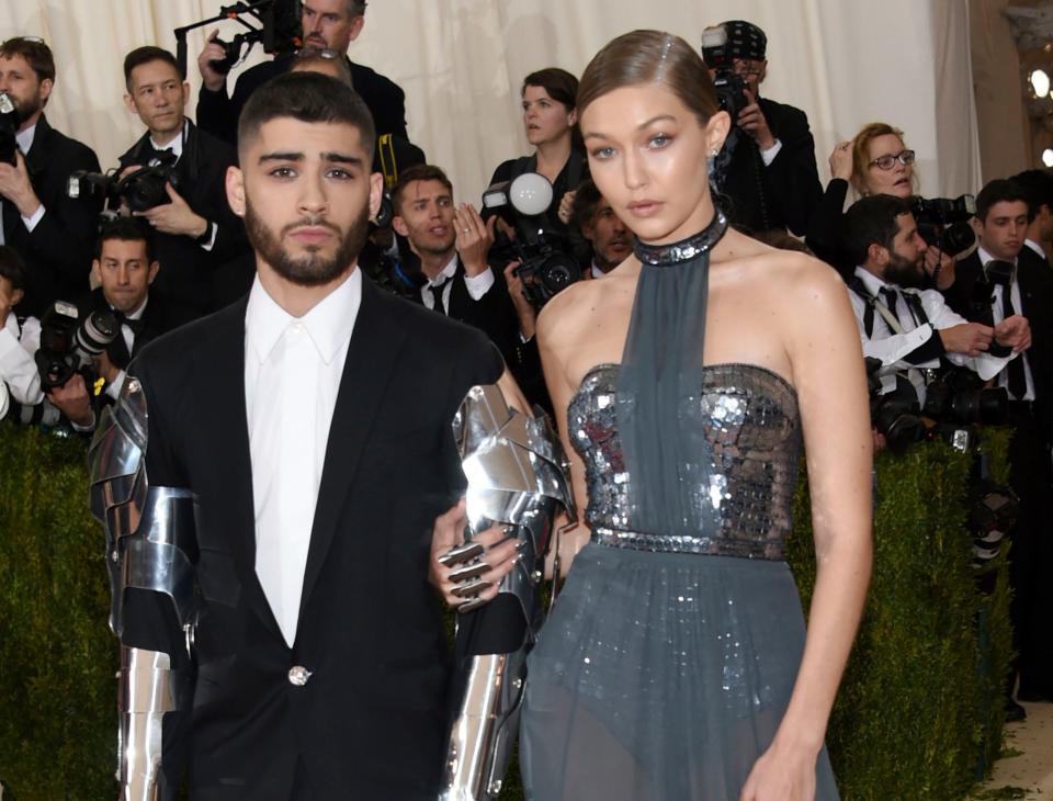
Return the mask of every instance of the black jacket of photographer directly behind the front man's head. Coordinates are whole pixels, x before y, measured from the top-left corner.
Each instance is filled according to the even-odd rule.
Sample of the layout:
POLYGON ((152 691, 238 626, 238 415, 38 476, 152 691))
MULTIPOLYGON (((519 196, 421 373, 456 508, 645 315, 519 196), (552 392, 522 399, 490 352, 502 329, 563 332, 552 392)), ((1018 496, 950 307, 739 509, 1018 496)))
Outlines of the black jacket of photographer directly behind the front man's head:
MULTIPOLYGON (((249 95, 275 76, 287 72, 293 64, 292 56, 279 56, 272 61, 258 64, 246 70, 234 84, 234 93, 227 97, 224 87, 211 92, 204 87, 197 95, 197 124, 213 136, 236 144, 238 140, 238 116, 249 95)), ((350 58, 351 82, 354 91, 365 102, 373 115, 376 133, 395 134, 404 139, 406 133, 406 94, 393 80, 385 78, 350 58)))

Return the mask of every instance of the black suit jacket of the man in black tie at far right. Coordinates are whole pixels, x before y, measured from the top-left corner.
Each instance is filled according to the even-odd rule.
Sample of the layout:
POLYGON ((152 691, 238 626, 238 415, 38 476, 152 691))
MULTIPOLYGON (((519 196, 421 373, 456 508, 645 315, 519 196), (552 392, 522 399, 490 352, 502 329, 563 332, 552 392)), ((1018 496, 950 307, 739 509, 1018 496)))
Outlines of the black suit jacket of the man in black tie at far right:
MULTIPOLYGON (((970 320, 977 318, 972 298, 982 274, 977 250, 955 264, 954 283, 943 293, 948 305, 970 320)), ((1031 326, 1031 348, 1026 356, 1034 379, 1035 414, 1046 440, 1053 441, 1053 271, 1024 247, 1017 258, 1017 282, 1023 305, 1017 311, 1031 326)))

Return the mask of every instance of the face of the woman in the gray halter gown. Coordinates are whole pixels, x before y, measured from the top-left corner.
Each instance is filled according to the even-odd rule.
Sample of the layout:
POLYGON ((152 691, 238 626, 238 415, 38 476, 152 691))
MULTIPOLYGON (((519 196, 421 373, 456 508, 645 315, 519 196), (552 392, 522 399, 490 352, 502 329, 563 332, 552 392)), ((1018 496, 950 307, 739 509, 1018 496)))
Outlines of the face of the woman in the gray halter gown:
POLYGON ((697 234, 712 218, 706 158, 720 150, 729 125, 724 112, 701 125, 657 83, 615 89, 581 115, 600 194, 637 237, 655 244, 697 234))

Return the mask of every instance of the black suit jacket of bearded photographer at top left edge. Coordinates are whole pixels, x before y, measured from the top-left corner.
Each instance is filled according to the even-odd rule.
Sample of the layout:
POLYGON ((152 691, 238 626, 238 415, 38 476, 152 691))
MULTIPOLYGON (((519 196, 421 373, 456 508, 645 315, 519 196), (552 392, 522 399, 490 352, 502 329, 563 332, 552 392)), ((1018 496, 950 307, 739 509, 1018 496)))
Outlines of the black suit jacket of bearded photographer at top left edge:
POLYGON ((71 173, 99 171, 94 151, 53 128, 43 114, 25 156, 30 182, 46 210, 30 233, 13 203, 0 199, 4 241, 26 262, 20 316, 39 317, 57 300, 76 302, 88 291, 102 202, 67 194, 71 173))

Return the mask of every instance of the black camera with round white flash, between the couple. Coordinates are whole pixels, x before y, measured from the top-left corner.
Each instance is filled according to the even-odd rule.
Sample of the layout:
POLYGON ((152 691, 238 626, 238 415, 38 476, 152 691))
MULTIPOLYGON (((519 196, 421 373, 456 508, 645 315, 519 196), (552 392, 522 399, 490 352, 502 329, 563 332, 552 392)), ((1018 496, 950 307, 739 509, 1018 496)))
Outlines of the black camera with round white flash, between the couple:
POLYGON ((552 183, 536 172, 495 183, 483 193, 483 218, 497 214, 516 229, 511 242, 514 258, 520 261, 516 275, 522 280, 523 294, 534 308, 541 308, 581 278, 581 266, 570 255, 569 241, 547 227, 544 214, 552 196, 552 183))

